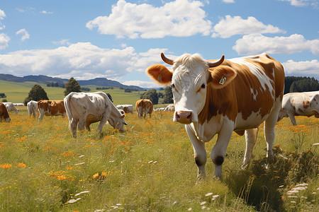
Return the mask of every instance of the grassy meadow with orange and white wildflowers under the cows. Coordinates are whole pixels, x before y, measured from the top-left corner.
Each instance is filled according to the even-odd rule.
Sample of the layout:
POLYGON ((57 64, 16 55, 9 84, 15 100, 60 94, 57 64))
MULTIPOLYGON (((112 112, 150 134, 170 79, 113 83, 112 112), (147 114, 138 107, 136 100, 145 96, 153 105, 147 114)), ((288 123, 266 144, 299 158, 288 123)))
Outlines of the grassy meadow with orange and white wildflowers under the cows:
POLYGON ((254 158, 241 170, 245 136, 233 134, 223 179, 213 177, 206 144, 206 180, 196 184, 194 152, 172 112, 138 119, 125 132, 106 124, 72 138, 67 118, 29 118, 26 107, 0 123, 1 211, 318 211, 319 119, 276 125, 275 161, 266 169, 262 126, 254 158))

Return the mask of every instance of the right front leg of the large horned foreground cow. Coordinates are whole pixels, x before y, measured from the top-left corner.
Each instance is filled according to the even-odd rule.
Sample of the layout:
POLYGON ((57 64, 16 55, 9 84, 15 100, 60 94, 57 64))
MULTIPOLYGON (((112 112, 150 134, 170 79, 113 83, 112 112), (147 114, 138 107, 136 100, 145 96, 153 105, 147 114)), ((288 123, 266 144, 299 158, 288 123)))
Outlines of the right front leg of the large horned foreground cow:
POLYGON ((215 176, 220 179, 222 177, 222 166, 225 160, 226 149, 233 134, 232 129, 232 127, 223 127, 220 130, 216 144, 211 151, 211 160, 214 163, 215 176))

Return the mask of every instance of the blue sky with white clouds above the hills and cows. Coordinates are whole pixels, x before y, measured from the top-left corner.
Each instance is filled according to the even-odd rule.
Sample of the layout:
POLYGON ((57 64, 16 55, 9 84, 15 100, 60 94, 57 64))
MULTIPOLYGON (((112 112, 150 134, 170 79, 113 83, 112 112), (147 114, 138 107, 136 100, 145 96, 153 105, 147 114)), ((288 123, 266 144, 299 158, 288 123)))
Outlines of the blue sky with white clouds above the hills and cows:
POLYGON ((158 87, 160 53, 267 52, 286 76, 319 79, 318 0, 0 0, 0 73, 158 87))

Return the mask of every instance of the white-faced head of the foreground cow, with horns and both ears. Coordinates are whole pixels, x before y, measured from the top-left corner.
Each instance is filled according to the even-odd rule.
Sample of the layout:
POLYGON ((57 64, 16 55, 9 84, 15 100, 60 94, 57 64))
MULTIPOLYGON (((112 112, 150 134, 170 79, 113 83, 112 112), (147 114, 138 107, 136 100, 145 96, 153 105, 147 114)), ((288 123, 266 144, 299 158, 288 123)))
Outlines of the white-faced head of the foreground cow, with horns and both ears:
POLYGON ((223 88, 237 75, 229 66, 220 65, 224 56, 216 61, 206 61, 199 54, 183 54, 174 61, 163 53, 161 57, 172 65, 172 71, 162 64, 155 64, 148 67, 146 72, 162 86, 172 84, 175 106, 173 121, 181 124, 198 122, 198 114, 206 102, 208 86, 223 88))

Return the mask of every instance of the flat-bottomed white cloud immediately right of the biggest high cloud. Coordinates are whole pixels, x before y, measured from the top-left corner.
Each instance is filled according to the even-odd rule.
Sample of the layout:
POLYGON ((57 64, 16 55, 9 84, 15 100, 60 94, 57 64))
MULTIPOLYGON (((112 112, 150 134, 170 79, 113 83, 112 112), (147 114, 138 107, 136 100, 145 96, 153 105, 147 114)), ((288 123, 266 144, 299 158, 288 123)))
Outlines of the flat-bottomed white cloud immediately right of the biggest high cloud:
POLYGON ((248 35, 252 33, 285 33, 273 25, 264 25, 256 18, 250 16, 242 19, 240 16, 225 16, 213 27, 212 37, 228 38, 233 35, 248 35))

